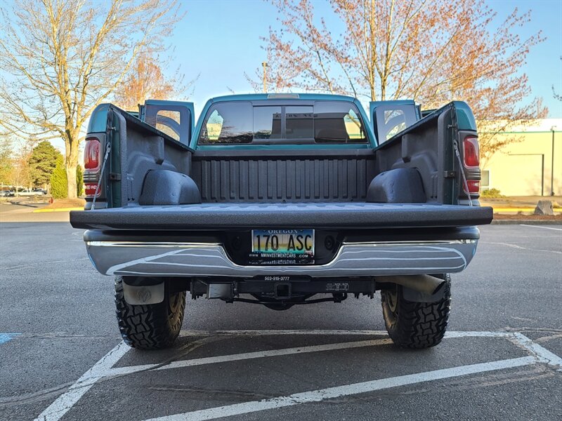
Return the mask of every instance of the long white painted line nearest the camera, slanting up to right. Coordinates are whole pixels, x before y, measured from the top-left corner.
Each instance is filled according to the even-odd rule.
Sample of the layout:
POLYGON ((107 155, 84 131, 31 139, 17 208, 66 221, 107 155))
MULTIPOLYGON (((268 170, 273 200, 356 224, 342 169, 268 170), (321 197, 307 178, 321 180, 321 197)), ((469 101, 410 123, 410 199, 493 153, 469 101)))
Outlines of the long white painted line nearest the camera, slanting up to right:
POLYGON ((374 392, 375 390, 390 389, 391 387, 414 385, 421 382, 431 382, 433 380, 443 380, 451 377, 459 377, 462 375, 485 373, 486 371, 493 370, 503 370, 505 368, 529 366, 530 364, 535 364, 536 362, 537 361, 532 356, 523 356, 521 358, 493 361, 491 363, 471 364, 470 366, 444 368, 442 370, 427 371, 425 373, 388 377, 386 379, 372 380, 370 382, 354 383, 353 385, 328 387, 327 389, 311 390, 310 392, 296 393, 289 396, 279 396, 272 399, 263 399, 261 401, 235 403, 234 405, 218 406, 216 408, 195 410, 188 413, 151 418, 150 420, 146 421, 214 420, 221 417, 231 417, 233 415, 255 413, 261 410, 301 405, 301 403, 321 402, 325 401, 326 399, 334 399, 341 396, 374 392))

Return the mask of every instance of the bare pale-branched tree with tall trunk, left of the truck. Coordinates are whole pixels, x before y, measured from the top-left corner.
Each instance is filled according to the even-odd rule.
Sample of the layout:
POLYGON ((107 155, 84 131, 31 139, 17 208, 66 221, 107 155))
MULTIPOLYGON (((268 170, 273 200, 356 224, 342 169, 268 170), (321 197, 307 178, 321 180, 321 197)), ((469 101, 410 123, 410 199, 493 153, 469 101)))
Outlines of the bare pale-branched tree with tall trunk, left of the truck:
POLYGON ((1 7, 0 99, 6 133, 62 138, 77 196, 81 128, 140 51, 161 51, 181 16, 166 0, 17 0, 1 7))

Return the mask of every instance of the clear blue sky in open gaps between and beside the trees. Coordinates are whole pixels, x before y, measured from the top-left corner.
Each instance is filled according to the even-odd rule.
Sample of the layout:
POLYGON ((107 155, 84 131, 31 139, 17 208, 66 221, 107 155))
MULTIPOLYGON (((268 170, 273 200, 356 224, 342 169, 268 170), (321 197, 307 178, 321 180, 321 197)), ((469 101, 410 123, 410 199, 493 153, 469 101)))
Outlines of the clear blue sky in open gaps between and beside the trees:
MULTIPOLYGON (((528 74, 532 97, 544 98, 549 116, 562 117, 561 102, 552 97, 551 86, 562 92, 562 0, 488 0, 503 20, 515 7, 532 11, 532 21, 521 30, 529 36, 540 30, 547 37, 528 55, 523 72, 528 74)), ((204 102, 217 95, 252 92, 244 72, 254 74, 266 58, 260 36, 268 28, 277 27, 275 8, 261 0, 189 0, 182 7, 187 15, 174 31, 170 41, 176 48, 176 65, 181 66, 185 79, 200 74, 190 100, 200 112, 204 102)), ((315 1, 317 13, 333 22, 329 5, 315 1)))

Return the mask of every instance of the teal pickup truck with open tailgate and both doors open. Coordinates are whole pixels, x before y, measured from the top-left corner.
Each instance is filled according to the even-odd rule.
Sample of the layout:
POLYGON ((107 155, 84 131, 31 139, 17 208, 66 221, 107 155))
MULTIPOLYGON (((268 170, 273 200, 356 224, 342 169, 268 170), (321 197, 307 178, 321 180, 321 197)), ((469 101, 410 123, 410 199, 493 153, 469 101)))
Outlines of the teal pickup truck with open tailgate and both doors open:
POLYGON ((478 135, 470 108, 256 94, 139 112, 100 105, 84 149, 94 267, 115 276, 119 329, 169 347, 185 295, 285 310, 373 298, 401 347, 437 345, 450 275, 476 252, 478 135), (320 298, 313 298, 314 296, 320 298))

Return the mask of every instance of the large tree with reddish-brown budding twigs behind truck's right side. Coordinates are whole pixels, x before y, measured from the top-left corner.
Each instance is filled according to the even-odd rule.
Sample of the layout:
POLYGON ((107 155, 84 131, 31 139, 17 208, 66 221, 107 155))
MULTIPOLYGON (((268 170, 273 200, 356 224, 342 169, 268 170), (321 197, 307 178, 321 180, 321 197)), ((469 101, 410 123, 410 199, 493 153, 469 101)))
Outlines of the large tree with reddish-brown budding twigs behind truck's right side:
POLYGON ((506 123, 481 136, 485 157, 498 150, 497 131, 547 114, 536 99, 524 103, 530 87, 521 69, 543 40, 518 35, 530 13, 515 9, 492 27, 496 13, 483 0, 331 0, 344 27, 337 35, 315 17, 311 0, 272 3, 282 29, 264 41, 276 90, 413 98, 428 108, 464 100, 479 122, 506 123))

